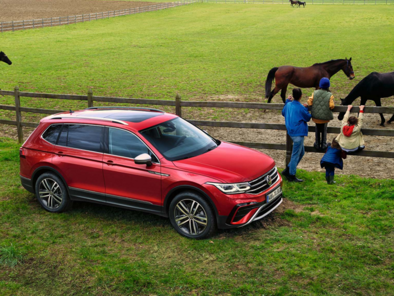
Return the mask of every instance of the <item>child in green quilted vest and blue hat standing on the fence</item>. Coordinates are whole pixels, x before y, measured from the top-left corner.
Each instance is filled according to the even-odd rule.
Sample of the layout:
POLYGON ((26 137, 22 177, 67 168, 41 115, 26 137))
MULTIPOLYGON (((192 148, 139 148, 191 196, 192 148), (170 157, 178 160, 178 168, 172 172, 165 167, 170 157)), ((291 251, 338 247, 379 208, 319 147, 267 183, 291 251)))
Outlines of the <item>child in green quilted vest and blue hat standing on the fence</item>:
POLYGON ((318 150, 327 149, 327 124, 334 119, 331 109, 334 108, 334 96, 329 91, 329 79, 323 77, 320 80, 320 89, 315 90, 309 97, 308 105, 312 106, 312 120, 316 124, 315 144, 318 150))

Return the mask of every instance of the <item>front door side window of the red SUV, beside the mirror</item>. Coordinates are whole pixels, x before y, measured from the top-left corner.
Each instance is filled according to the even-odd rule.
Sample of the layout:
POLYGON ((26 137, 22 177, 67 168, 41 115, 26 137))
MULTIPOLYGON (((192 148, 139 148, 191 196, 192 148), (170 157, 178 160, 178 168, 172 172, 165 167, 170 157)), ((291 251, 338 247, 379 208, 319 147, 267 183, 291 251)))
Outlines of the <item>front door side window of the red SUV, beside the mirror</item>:
POLYGON ((108 129, 108 152, 112 155, 132 159, 140 154, 147 153, 152 157, 152 162, 159 162, 155 154, 137 136, 116 128, 108 129))

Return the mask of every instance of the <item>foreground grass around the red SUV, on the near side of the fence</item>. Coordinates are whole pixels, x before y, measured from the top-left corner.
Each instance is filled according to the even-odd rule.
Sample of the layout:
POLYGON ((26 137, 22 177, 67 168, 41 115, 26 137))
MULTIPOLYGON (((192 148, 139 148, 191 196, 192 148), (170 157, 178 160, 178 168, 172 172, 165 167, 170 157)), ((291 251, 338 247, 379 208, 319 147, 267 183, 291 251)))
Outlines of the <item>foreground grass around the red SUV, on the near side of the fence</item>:
POLYGON ((295 209, 195 241, 161 217, 89 203, 50 214, 19 181, 19 145, 0 138, 1 296, 394 295, 393 180, 301 172, 295 209))

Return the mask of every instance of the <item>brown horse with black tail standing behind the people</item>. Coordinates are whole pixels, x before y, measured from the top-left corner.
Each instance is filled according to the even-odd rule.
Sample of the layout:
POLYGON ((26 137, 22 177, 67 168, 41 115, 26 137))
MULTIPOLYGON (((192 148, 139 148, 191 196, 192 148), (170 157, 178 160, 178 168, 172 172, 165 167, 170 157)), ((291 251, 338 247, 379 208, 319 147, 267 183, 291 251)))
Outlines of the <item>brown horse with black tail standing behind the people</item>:
POLYGON ((289 83, 298 87, 315 87, 319 89, 320 79, 331 76, 342 70, 350 80, 354 78, 354 71, 352 67, 352 58, 340 60, 331 60, 325 63, 314 64, 307 68, 299 68, 293 66, 282 66, 272 68, 268 72, 267 80, 265 82, 265 98, 268 98, 268 103, 271 103, 272 97, 280 90, 280 96, 283 103, 286 100, 286 91, 289 83), (275 88, 271 91, 272 80, 275 78, 275 88))

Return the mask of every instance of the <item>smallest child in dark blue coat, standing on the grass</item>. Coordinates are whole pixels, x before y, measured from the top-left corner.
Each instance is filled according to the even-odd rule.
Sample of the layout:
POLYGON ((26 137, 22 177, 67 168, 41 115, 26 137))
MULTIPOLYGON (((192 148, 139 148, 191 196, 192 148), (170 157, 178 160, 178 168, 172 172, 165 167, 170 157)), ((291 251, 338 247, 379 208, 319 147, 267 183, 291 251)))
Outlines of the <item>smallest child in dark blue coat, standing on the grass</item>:
POLYGON ((320 166, 326 169, 327 184, 336 183, 334 182, 335 168, 343 170, 342 159, 346 159, 346 151, 341 149, 335 138, 332 140, 331 145, 328 146, 326 153, 320 161, 320 166))

